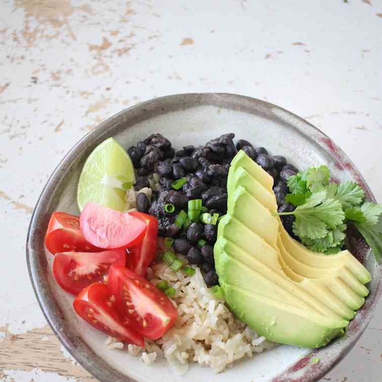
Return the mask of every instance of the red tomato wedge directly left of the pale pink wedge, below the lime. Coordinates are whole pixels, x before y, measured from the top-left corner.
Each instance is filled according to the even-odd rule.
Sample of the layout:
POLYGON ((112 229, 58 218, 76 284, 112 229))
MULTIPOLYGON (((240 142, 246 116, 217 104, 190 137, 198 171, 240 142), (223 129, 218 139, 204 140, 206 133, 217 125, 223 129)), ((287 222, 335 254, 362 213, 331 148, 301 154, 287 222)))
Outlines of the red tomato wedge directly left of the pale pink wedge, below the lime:
POLYGON ((52 214, 46 230, 45 246, 53 254, 68 251, 102 251, 85 240, 79 228, 79 217, 65 212, 52 214))

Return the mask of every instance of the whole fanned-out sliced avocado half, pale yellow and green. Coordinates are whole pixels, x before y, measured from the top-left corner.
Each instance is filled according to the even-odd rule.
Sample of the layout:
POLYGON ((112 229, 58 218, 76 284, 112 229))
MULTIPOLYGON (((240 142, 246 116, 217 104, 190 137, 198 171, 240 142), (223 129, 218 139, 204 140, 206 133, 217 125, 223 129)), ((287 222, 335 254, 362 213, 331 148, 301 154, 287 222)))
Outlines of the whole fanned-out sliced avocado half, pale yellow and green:
POLYGON ((270 212, 277 206, 269 189, 268 174, 243 154, 238 153, 229 170, 228 213, 219 222, 214 249, 227 304, 270 340, 296 346, 324 346, 346 329, 355 315, 353 310, 364 303, 368 290, 363 283, 370 280, 370 274, 348 251, 325 256, 291 238, 279 218, 270 212), (251 184, 251 179, 256 181, 251 184), (276 287, 269 287, 269 282, 276 287), (258 309, 254 308, 256 304, 258 309), (277 329, 263 320, 276 308, 277 329), (297 328, 295 333, 291 326, 297 328))

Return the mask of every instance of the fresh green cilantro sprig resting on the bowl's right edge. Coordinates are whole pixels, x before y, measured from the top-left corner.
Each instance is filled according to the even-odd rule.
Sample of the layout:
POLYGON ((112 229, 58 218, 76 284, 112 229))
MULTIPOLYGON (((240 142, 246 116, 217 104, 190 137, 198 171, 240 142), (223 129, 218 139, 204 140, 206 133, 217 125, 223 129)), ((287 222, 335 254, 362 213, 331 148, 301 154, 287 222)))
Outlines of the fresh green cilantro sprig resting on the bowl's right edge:
POLYGON ((364 189, 352 181, 330 182, 327 166, 311 167, 290 176, 285 198, 296 209, 278 215, 294 215, 293 232, 309 249, 325 254, 341 251, 346 227, 354 224, 375 259, 382 262, 382 205, 364 202, 364 189))

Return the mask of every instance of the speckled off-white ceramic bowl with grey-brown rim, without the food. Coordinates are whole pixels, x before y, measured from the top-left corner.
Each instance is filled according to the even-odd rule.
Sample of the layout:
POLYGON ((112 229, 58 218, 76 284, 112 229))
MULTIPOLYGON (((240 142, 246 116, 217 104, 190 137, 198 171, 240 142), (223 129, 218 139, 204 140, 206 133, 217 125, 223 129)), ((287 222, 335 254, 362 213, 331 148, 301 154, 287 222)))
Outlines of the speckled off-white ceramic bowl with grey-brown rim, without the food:
POLYGON ((57 286, 51 270, 53 256, 44 249, 49 218, 58 210, 78 214, 76 186, 82 165, 104 139, 114 136, 128 148, 154 132, 169 138, 175 148, 204 144, 222 133, 234 132, 237 139, 264 146, 271 154, 284 155, 302 169, 326 164, 333 177, 357 181, 366 190, 366 198, 375 202, 361 174, 329 137, 307 121, 269 103, 235 94, 178 94, 126 109, 94 128, 69 151, 47 181, 30 222, 26 243, 30 278, 46 320, 60 341, 85 369, 105 382, 308 382, 322 377, 353 347, 381 294, 381 266, 357 232, 349 233, 348 246, 372 275, 367 285, 370 295, 351 321, 347 335, 322 349, 280 346, 239 362, 221 374, 194 365, 184 376, 178 376, 165 360, 145 366, 125 352, 106 350, 103 333, 74 314, 73 298, 57 286), (319 362, 312 362, 313 357, 319 362))

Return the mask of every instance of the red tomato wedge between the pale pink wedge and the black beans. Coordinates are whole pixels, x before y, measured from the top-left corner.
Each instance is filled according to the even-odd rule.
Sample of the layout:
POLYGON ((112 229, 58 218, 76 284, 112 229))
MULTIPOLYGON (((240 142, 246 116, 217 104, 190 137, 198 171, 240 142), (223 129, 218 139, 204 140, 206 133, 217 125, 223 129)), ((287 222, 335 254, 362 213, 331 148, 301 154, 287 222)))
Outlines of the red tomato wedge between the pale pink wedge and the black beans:
POLYGON ((134 211, 130 215, 145 222, 147 228, 142 243, 128 249, 127 266, 135 273, 145 276, 146 268, 157 256, 158 220, 142 212, 134 211))

